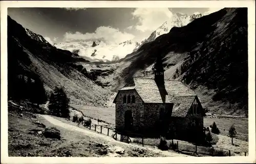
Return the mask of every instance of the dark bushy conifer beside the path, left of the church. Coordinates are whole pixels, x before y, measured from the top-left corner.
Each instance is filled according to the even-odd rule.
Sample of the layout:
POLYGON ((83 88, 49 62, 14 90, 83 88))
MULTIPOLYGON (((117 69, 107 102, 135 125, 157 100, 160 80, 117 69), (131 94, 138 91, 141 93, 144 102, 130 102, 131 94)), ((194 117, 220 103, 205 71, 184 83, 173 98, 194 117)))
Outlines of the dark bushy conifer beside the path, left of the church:
POLYGON ((62 87, 55 87, 54 91, 51 93, 49 110, 52 115, 64 118, 69 117, 69 98, 62 87))

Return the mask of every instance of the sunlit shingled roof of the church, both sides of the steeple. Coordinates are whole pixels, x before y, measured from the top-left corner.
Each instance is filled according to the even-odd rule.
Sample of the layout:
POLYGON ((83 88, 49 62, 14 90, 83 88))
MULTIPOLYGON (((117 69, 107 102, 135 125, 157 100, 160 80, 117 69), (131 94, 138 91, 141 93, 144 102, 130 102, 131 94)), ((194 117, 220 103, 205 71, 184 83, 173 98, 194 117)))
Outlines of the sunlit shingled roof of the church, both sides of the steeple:
POLYGON ((173 103, 172 116, 185 117, 196 97, 196 93, 185 86, 180 80, 164 80, 165 102, 163 102, 159 88, 153 78, 134 78, 133 86, 124 86, 122 90, 135 89, 144 103, 173 103))

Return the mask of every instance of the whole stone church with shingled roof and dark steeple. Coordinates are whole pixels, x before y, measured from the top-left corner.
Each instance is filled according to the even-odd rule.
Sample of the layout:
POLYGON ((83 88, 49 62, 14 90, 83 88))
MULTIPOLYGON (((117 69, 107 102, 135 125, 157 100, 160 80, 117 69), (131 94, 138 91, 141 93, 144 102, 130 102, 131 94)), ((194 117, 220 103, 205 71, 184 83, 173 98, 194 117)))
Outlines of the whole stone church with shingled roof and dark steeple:
POLYGON ((117 132, 187 141, 204 137, 199 98, 181 81, 164 79, 160 58, 155 78, 133 78, 118 91, 114 103, 117 132))

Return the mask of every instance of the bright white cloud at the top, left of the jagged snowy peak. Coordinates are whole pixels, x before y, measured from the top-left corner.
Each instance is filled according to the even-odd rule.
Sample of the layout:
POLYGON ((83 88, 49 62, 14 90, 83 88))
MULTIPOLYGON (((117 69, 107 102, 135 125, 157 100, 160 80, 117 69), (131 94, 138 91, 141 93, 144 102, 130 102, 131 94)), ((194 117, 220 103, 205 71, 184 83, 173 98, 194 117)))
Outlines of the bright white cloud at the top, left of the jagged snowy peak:
POLYGON ((157 29, 166 20, 170 19, 173 13, 168 8, 136 8, 132 15, 139 19, 139 23, 134 27, 145 32, 157 29))

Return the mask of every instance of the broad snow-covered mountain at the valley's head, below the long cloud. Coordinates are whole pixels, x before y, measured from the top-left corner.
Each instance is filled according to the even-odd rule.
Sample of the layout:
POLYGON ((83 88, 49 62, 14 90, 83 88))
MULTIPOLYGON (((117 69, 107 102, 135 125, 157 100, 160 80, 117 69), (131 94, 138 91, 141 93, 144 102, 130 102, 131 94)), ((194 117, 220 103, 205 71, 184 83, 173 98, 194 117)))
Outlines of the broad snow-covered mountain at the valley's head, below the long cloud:
POLYGON ((82 42, 62 42, 55 44, 59 49, 75 50, 78 55, 90 57, 98 61, 114 61, 132 53, 133 49, 138 46, 138 42, 127 40, 120 44, 106 44, 103 40, 88 40, 82 42))

